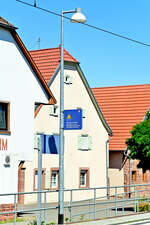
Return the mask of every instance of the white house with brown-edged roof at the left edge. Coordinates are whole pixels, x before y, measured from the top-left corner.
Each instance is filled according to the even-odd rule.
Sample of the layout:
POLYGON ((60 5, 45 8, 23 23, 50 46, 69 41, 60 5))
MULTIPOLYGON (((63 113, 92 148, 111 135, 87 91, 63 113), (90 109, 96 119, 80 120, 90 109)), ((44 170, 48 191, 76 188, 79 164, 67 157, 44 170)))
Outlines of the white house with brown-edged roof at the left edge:
MULTIPOLYGON (((56 100, 16 28, 2 17, 0 74, 0 194, 4 194, 18 192, 18 169, 21 179, 22 161, 33 160, 35 104, 56 100)), ((0 210, 11 203, 13 207, 13 202, 13 196, 1 197, 0 210)))

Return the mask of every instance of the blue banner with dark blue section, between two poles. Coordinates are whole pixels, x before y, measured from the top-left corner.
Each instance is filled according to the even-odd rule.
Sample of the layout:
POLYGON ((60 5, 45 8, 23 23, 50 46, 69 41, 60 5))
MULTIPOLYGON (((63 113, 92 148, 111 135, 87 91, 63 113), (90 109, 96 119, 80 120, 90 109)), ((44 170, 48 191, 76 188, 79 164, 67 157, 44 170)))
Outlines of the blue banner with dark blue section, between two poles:
POLYGON ((42 153, 59 154, 59 135, 41 135, 42 153))

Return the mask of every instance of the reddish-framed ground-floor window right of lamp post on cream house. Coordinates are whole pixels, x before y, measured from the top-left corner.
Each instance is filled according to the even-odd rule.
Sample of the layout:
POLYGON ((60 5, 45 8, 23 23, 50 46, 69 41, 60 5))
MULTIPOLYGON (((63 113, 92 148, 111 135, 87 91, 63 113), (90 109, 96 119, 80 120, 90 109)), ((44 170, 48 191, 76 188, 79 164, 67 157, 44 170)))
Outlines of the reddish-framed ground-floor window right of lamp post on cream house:
POLYGON ((89 188, 89 169, 80 168, 80 184, 79 188, 89 188))

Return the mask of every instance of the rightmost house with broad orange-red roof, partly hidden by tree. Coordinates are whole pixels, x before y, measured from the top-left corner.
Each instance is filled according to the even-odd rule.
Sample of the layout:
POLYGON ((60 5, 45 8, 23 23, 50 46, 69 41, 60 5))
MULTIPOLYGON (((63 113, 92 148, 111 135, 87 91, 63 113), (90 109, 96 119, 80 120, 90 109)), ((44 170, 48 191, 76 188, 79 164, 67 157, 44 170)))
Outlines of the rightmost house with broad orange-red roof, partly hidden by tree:
MULTIPOLYGON (((150 84, 92 88, 108 124, 113 130, 109 146, 110 185, 129 184, 129 162, 124 155, 125 141, 132 127, 144 119, 150 107, 150 84)), ((149 183, 150 173, 137 168, 131 160, 131 183, 149 183)))

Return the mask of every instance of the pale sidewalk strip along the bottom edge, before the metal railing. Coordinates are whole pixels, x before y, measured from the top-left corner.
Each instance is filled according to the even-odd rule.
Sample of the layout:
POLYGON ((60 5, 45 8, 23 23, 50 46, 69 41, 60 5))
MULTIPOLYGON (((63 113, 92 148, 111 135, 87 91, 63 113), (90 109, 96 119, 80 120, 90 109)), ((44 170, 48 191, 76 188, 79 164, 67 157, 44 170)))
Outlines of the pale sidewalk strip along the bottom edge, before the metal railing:
MULTIPOLYGON (((123 217, 115 217, 110 219, 96 220, 96 221, 88 221, 88 222, 80 222, 80 223, 72 223, 70 225, 117 225, 117 224, 130 224, 132 222, 140 222, 146 221, 150 222, 150 213, 141 213, 138 215, 131 216, 123 216, 123 217)), ((13 223, 5 223, 6 225, 13 225, 13 223)), ((17 222, 17 225, 28 225, 28 221, 26 222, 17 222)))

